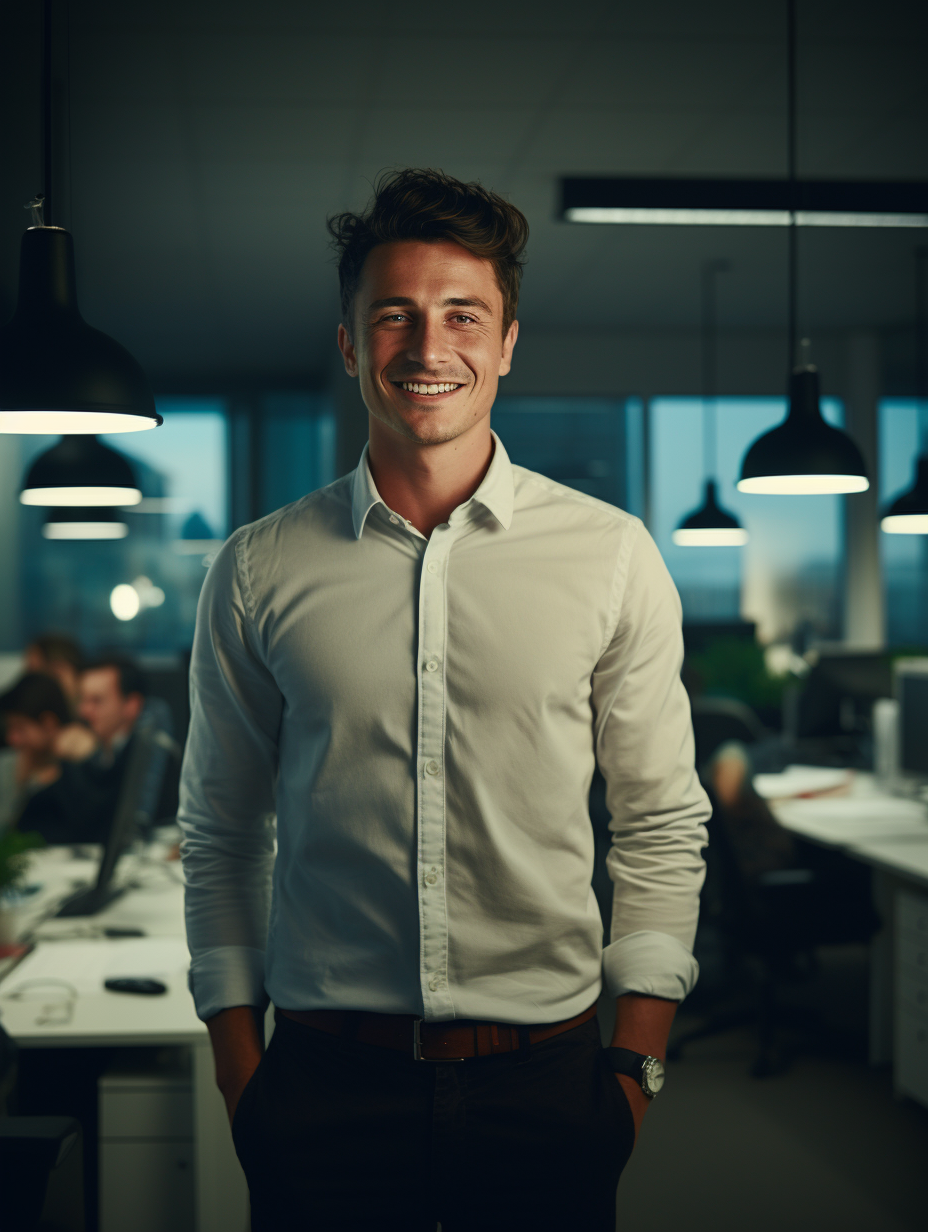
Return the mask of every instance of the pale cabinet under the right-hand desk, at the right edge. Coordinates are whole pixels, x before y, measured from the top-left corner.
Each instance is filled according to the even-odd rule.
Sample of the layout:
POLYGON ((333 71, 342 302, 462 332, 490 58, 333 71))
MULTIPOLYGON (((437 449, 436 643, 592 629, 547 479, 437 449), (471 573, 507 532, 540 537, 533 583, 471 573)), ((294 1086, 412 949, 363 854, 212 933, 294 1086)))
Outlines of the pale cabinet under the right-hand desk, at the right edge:
POLYGON ((896 892, 896 1090, 928 1108, 928 896, 896 892))

